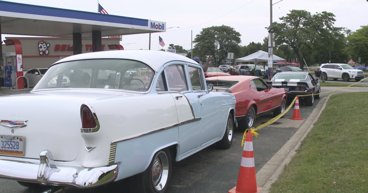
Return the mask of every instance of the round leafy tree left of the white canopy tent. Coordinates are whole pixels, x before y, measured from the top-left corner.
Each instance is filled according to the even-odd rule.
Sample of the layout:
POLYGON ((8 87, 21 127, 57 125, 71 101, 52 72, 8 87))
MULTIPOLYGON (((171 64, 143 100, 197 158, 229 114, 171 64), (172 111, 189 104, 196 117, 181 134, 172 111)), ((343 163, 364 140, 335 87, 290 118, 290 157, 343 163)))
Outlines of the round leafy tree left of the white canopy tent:
POLYGON ((194 39, 193 57, 198 56, 205 61, 206 56, 212 56, 216 64, 227 58, 228 52, 240 56, 240 33, 229 26, 212 26, 203 28, 194 39))

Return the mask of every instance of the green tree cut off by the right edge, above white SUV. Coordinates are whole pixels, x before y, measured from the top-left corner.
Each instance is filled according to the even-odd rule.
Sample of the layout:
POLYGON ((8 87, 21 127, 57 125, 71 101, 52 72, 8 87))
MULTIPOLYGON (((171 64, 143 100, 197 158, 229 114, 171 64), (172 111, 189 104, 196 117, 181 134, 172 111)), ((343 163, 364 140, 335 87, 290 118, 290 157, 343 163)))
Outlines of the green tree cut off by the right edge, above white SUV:
POLYGON ((361 58, 361 62, 368 64, 368 25, 361 26, 360 29, 347 36, 348 46, 346 52, 351 56, 351 59, 358 61, 361 58))

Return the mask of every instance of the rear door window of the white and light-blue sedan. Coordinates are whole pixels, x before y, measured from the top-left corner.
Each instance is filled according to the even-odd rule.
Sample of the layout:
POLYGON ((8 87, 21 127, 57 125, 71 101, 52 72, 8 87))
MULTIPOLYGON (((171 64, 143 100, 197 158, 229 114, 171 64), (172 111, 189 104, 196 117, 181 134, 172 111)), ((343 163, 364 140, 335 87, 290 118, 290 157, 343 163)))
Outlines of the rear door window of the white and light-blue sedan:
POLYGON ((188 90, 183 65, 171 65, 166 67, 165 70, 168 75, 172 75, 167 77, 167 83, 171 91, 182 92, 188 90))

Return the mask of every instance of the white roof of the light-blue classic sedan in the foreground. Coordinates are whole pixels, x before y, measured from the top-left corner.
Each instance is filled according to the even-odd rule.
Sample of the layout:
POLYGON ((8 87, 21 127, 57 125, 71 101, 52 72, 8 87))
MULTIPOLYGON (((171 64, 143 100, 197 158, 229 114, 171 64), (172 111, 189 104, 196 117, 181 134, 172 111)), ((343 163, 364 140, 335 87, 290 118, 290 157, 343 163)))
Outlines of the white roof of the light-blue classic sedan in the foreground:
MULTIPOLYGON (((155 51, 155 50, 110 50, 110 51, 97 51, 92 53, 77 54, 63 58, 54 64, 61 62, 74 61, 74 60, 86 60, 86 59, 98 59, 98 58, 114 58, 114 59, 129 59, 137 60, 148 64, 154 71, 170 61, 183 61, 191 64, 199 64, 185 56, 179 54, 169 53, 166 51, 155 51)), ((53 65, 54 65, 53 64, 53 65)))

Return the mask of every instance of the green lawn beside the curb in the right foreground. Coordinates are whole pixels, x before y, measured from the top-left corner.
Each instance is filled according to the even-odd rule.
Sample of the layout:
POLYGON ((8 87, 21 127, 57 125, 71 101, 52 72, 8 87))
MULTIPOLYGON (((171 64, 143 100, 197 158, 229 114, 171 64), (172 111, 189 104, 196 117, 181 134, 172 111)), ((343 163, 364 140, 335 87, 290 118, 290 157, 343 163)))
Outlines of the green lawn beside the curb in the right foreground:
POLYGON ((367 97, 331 96, 270 192, 368 192, 367 97))

